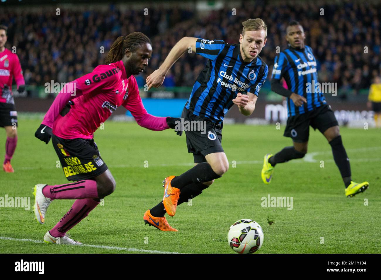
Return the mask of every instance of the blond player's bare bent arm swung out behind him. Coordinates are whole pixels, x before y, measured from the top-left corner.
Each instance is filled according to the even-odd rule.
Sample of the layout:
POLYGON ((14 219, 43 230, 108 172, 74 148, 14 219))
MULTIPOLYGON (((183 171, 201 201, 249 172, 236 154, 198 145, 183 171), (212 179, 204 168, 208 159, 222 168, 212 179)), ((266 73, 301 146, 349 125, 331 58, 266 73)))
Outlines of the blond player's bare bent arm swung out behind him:
POLYGON ((146 82, 148 90, 150 88, 158 88, 163 84, 165 75, 168 70, 172 67, 174 62, 176 62, 187 50, 189 50, 189 47, 192 47, 192 52, 196 51, 196 41, 197 38, 184 37, 179 42, 177 42, 176 45, 174 45, 159 69, 155 70, 151 75, 147 77, 146 82))

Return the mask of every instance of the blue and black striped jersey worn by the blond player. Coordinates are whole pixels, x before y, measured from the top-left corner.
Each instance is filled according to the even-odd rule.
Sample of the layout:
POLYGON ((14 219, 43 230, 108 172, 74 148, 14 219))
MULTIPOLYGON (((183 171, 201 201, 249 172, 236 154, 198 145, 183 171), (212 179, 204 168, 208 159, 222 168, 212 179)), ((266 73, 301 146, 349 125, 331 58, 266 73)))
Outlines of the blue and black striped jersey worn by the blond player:
POLYGON ((196 53, 209 60, 185 105, 192 114, 220 123, 233 106, 237 93, 250 92, 258 96, 269 71, 259 56, 244 62, 239 44, 200 38, 196 42, 196 53))

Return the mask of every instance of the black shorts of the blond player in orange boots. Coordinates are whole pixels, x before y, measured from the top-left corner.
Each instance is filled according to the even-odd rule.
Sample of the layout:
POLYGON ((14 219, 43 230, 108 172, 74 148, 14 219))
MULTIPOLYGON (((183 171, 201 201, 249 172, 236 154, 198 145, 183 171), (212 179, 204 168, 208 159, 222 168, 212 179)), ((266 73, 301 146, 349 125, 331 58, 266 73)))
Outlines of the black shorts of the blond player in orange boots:
POLYGON ((184 119, 188 152, 193 153, 194 163, 206 162, 205 156, 208 154, 224 152, 221 146, 222 122, 216 125, 210 118, 196 116, 186 107, 182 110, 181 118, 184 119), (186 122, 189 123, 189 128, 186 127, 186 122))

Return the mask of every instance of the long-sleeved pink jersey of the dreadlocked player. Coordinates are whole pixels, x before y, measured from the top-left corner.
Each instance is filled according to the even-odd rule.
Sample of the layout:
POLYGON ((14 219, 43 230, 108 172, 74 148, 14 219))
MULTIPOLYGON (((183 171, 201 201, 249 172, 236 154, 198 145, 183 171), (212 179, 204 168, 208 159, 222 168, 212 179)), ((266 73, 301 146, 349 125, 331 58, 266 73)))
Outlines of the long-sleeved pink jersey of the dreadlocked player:
POLYGON ((165 117, 147 113, 139 96, 138 83, 133 75, 127 78, 122 61, 99 65, 93 72, 67 83, 54 99, 42 124, 53 128, 53 134, 64 139, 91 139, 94 131, 119 106, 129 110, 140 126, 150 130, 169 128, 165 117), (59 112, 69 100, 73 100, 74 105, 62 117, 59 112))

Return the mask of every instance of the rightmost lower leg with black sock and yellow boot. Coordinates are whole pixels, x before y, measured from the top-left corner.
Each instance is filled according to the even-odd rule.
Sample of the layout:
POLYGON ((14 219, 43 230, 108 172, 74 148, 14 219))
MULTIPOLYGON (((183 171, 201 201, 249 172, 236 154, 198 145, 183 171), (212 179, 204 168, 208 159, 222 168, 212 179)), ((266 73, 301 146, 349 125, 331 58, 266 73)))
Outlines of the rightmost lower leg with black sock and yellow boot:
POLYGON ((351 165, 349 163, 349 158, 347 152, 343 146, 343 141, 341 139, 339 126, 335 125, 328 128, 323 132, 325 138, 332 148, 333 159, 337 167, 340 170, 341 177, 344 181, 345 195, 352 197, 360 192, 363 192, 369 187, 368 182, 356 183, 352 181, 351 177, 351 165))

